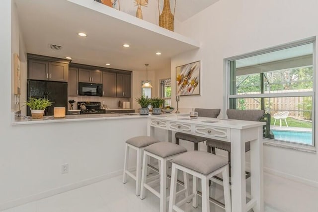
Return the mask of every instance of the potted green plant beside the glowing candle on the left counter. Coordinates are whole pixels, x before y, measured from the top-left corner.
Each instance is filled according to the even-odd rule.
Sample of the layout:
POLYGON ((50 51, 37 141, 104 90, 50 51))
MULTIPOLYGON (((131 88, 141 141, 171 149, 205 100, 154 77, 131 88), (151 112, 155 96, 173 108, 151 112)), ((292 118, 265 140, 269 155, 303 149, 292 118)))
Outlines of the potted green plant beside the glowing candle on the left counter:
POLYGON ((25 102, 30 107, 32 118, 43 118, 44 110, 48 106, 53 106, 53 102, 43 98, 32 98, 25 102))

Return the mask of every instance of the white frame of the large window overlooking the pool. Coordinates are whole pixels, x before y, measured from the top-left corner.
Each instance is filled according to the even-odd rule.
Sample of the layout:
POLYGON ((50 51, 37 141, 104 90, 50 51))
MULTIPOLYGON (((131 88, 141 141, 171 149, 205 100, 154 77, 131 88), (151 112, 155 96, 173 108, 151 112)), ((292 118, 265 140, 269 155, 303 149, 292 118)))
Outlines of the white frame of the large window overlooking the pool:
MULTIPOLYGON (((224 101, 223 101, 223 106, 224 106, 224 111, 226 111, 227 108, 229 108, 230 106, 230 100, 231 99, 235 99, 235 98, 243 98, 243 96, 245 96, 246 98, 268 98, 268 97, 295 97, 295 96, 311 96, 312 100, 313 100, 313 127, 312 127, 312 133, 313 133, 313 143, 312 145, 306 145, 306 144, 297 144, 297 143, 292 143, 292 142, 285 142, 285 141, 280 141, 280 140, 275 140, 275 139, 268 139, 268 138, 263 138, 263 142, 264 144, 268 144, 268 145, 272 145, 272 146, 278 146, 278 147, 284 147, 284 148, 291 148, 291 149, 295 149, 295 150, 300 150, 300 151, 306 151, 306 152, 312 152, 312 153, 316 153, 317 151, 317 133, 318 130, 315 129, 315 126, 317 125, 317 119, 316 119, 316 112, 317 112, 317 104, 316 104, 316 99, 317 99, 317 92, 316 92, 316 81, 317 81, 317 76, 316 76, 316 37, 310 37, 310 38, 306 38, 303 40, 299 40, 296 42, 290 42, 290 43, 286 43, 283 45, 278 45, 278 46, 274 46, 274 47, 270 47, 270 48, 266 48, 266 49, 262 49, 262 50, 258 50, 258 51, 253 51, 247 54, 241 54, 238 56, 234 56, 234 57, 229 57, 229 58, 225 58, 224 59, 224 79, 226 79, 226 83, 224 85, 224 101), (286 48, 292 48, 295 46, 300 46, 300 45, 305 45, 305 44, 309 44, 312 43, 313 44, 313 91, 311 92, 289 92, 287 91, 286 93, 278 93, 278 94, 252 94, 252 95, 230 95, 230 85, 231 85, 231 66, 230 66, 230 62, 231 61, 235 61, 235 60, 239 60, 239 59, 243 59, 243 58, 248 58, 248 57, 252 57, 252 56, 256 56, 256 55, 260 55, 260 54, 265 54, 265 53, 269 53, 269 52, 275 52, 278 50, 282 50, 282 49, 286 49, 286 48)), ((226 114, 223 113, 223 118, 225 118, 226 114)))

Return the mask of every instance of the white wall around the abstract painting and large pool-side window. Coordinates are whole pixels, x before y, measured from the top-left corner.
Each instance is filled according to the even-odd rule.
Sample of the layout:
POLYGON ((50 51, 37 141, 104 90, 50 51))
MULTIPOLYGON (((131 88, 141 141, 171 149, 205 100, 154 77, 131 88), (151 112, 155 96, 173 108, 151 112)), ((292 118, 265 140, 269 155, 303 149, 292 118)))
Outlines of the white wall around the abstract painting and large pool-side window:
MULTIPOLYGON (((172 82, 176 66, 202 61, 201 96, 181 97, 179 106, 223 110, 223 59, 317 36, 317 8, 317 0, 221 0, 178 25, 178 33, 202 42, 171 61, 172 82)), ((317 154, 264 146, 265 171, 317 186, 317 164, 317 154)))

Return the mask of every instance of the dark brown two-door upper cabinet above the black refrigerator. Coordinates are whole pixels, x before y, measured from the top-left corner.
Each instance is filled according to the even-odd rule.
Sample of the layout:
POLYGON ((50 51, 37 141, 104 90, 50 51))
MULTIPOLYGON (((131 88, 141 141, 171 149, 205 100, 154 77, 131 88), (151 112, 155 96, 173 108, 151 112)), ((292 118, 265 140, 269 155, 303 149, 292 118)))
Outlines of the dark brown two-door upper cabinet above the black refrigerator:
POLYGON ((27 57, 28 79, 68 82, 70 61, 33 54, 27 57))

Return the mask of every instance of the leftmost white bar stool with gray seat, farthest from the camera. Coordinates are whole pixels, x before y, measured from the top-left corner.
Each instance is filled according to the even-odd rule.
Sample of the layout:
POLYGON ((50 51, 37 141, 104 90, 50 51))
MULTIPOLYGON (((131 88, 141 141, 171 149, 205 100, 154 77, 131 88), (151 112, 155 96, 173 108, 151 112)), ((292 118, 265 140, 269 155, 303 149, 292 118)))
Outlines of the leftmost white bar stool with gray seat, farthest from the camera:
MULTIPOLYGON (((143 150, 145 147, 160 142, 158 139, 150 136, 137 136, 132 137, 126 141, 125 145, 125 162, 124 162, 124 174, 123 183, 127 183, 127 175, 136 180, 136 196, 140 195, 140 185, 141 185, 141 165, 143 150), (136 175, 128 171, 128 160, 129 160, 129 149, 135 149, 137 151, 137 168, 136 175)), ((146 164, 147 166, 147 164, 146 164)))

